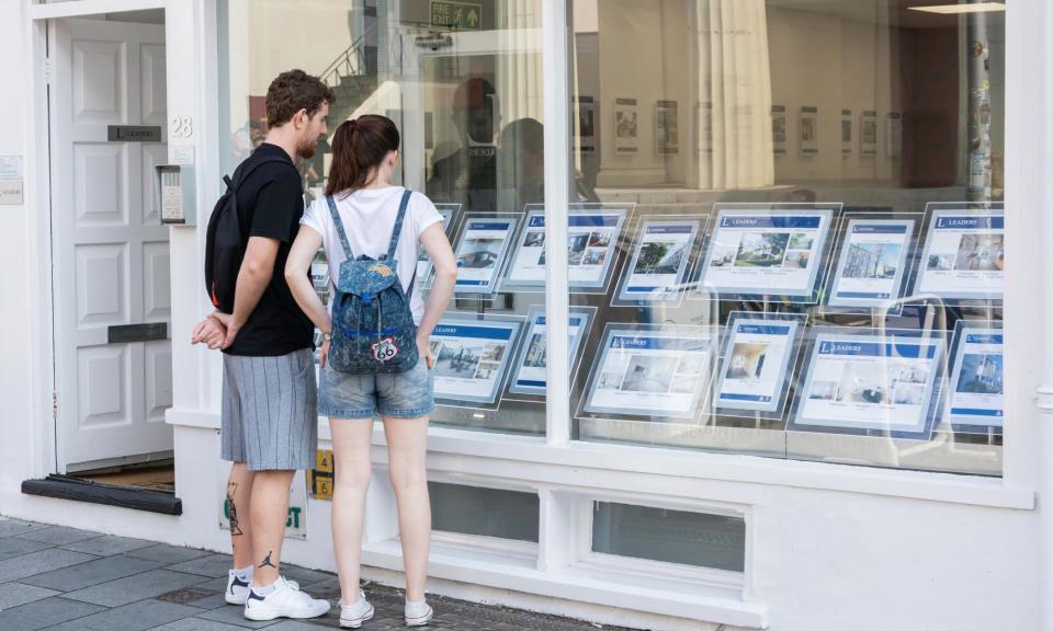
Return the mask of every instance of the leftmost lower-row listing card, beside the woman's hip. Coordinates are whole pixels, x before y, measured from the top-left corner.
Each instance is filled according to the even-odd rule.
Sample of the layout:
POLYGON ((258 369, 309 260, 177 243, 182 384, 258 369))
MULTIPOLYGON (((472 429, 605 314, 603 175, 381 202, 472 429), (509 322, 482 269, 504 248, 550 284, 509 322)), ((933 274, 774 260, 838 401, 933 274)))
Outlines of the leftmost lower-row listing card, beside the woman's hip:
POLYGON ((431 334, 435 399, 494 403, 511 364, 521 323, 443 318, 431 334))

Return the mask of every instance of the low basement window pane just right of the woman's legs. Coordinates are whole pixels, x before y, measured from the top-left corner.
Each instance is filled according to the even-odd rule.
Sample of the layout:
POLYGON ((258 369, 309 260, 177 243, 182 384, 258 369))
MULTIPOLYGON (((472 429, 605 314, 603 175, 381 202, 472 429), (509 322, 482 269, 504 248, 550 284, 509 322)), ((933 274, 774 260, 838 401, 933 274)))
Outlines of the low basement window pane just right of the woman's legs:
POLYGON ((537 542, 534 493, 429 482, 432 528, 462 535, 537 542))

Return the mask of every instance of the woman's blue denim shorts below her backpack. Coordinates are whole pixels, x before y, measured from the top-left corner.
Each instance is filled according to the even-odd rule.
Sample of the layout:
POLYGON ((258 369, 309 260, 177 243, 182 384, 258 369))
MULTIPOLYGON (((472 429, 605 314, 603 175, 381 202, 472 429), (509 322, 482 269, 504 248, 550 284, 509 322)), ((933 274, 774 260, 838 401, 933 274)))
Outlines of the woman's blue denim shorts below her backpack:
POLYGON ((435 409, 434 376, 421 358, 405 372, 347 375, 326 364, 318 388, 318 413, 330 418, 381 416, 417 418, 435 409))

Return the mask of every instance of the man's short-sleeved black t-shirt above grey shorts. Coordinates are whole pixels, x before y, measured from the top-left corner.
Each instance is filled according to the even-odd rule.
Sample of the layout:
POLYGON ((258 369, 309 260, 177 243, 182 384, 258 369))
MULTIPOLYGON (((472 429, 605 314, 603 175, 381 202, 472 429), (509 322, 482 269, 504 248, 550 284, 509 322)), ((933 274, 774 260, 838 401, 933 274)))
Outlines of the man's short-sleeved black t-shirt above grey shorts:
POLYGON ((282 158, 287 164, 264 164, 238 188, 238 215, 241 226, 248 227, 249 237, 268 237, 281 243, 271 282, 234 344, 226 349, 230 355, 278 357, 314 345, 314 324, 301 311, 285 283, 285 261, 304 215, 299 172, 284 149, 268 142, 257 147, 241 169, 272 157, 282 158))

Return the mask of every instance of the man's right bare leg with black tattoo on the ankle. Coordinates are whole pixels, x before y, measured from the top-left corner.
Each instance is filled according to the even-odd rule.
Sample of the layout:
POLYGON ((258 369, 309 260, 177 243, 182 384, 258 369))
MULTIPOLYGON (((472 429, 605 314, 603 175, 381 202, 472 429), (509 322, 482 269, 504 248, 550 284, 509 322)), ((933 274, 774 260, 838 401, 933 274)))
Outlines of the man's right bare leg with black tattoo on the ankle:
POLYGON ((257 471, 252 481, 249 518, 252 521, 252 559, 256 564, 253 587, 263 587, 278 581, 285 520, 288 518, 288 486, 294 473, 257 471))

